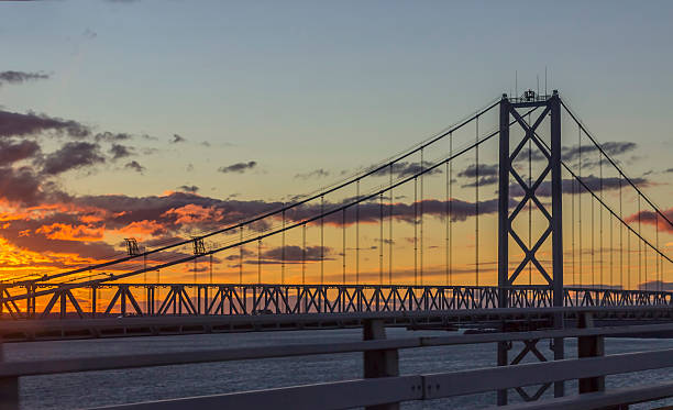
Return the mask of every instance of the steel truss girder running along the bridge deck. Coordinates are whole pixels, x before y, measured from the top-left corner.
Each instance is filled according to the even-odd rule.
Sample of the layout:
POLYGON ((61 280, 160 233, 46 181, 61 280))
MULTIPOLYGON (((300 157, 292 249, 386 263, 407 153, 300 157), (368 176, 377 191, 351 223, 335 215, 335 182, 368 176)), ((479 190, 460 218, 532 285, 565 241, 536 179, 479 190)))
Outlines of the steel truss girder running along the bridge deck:
MULTIPOLYGON (((13 319, 106 318, 110 315, 241 315, 260 312, 274 314, 445 311, 499 308, 553 307, 553 289, 545 285, 510 286, 405 286, 405 285, 190 285, 190 284, 110 284, 82 288, 90 300, 79 300, 68 288, 54 287, 42 299, 40 311, 34 299, 26 308, 15 301, 2 301, 5 314, 13 319), (97 290, 112 290, 98 311, 97 290), (158 298, 157 289, 168 289, 158 298), (139 298, 144 296, 144 300, 139 298), (503 300, 501 297, 507 299, 503 300), (150 301, 150 302, 147 302, 150 301), (85 311, 82 306, 90 306, 85 311)), ((11 287, 1 295, 11 297, 11 287)), ((33 289, 34 291, 35 289, 33 289)), ((31 301, 32 300, 32 301, 31 301)), ((565 288, 566 307, 671 306, 673 292, 565 288)))

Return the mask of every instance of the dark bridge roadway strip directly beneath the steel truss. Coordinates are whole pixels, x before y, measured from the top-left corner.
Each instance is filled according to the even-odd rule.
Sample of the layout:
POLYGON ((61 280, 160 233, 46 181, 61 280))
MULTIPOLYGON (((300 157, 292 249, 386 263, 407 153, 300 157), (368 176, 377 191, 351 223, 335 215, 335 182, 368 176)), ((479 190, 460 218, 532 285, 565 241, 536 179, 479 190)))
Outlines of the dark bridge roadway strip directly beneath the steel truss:
POLYGON ((506 331, 534 331, 553 326, 555 314, 563 314, 567 329, 576 328, 578 317, 592 312, 597 326, 658 324, 673 322, 673 306, 500 308, 431 311, 388 311, 349 313, 233 314, 119 317, 79 320, 5 320, 0 322, 4 342, 129 337, 227 332, 323 330, 362 328, 367 320, 386 326, 409 329, 475 328, 506 331))

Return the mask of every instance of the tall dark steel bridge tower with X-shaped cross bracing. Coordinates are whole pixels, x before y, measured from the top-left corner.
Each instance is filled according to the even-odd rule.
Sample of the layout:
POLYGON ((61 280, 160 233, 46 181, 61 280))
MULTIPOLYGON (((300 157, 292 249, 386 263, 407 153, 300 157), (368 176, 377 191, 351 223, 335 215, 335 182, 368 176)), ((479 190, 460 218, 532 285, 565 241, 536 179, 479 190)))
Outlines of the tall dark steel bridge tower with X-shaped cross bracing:
MULTIPOLYGON (((499 121, 499 187, 498 187, 498 287, 499 307, 510 307, 509 291, 517 288, 515 285, 517 277, 523 272, 528 263, 531 263, 537 272, 544 278, 553 298, 554 307, 563 306, 563 237, 562 237, 562 176, 561 176, 561 99, 559 92, 554 90, 551 96, 538 96, 533 91, 526 91, 523 97, 508 98, 503 95, 500 100, 500 121, 499 121), (519 113, 519 109, 542 109, 542 112, 534 120, 527 122, 519 113), (542 124, 547 117, 550 117, 551 128, 551 151, 536 136, 536 130, 542 124), (512 121, 514 119, 514 121, 512 121), (510 124, 520 126, 525 131, 523 138, 518 143, 514 151, 510 152, 509 131, 510 124), (517 155, 529 143, 534 145, 547 159, 544 169, 533 177, 532 185, 528 185, 525 179, 512 167, 512 162, 517 155), (551 213, 538 199, 536 192, 548 175, 551 174, 551 213), (523 197, 516 203, 510 203, 509 184, 510 177, 514 178, 523 190, 523 197), (526 207, 528 201, 534 203, 542 212, 549 222, 549 225, 540 237, 529 246, 517 235, 512 230, 511 223, 520 211, 526 207), (514 207, 510 207, 514 206, 514 207), (514 210, 512 210, 514 208, 514 210), (510 212, 511 210, 511 212, 510 212), (509 237, 512 237, 517 250, 520 250, 525 257, 523 261, 511 270, 509 267, 509 237), (536 257, 536 253, 540 246, 551 236, 552 241, 552 272, 549 273, 540 264, 536 257)), ((520 285, 519 285, 520 286, 520 285)), ((554 317, 554 328, 563 326, 563 317, 558 313, 554 317)), ((532 352, 539 354, 536 344, 538 341, 529 341, 526 343, 525 352, 521 352, 512 361, 508 359, 508 346, 506 343, 498 344, 498 366, 507 366, 518 363, 526 353, 532 352)), ((554 359, 562 359, 564 356, 563 339, 555 339, 552 344, 554 359)), ((533 397, 527 397, 522 394, 523 399, 534 399, 548 386, 543 386, 533 397)), ((563 383, 554 385, 554 396, 563 396, 563 383)), ((507 403, 507 391, 498 391, 498 405, 507 403)))

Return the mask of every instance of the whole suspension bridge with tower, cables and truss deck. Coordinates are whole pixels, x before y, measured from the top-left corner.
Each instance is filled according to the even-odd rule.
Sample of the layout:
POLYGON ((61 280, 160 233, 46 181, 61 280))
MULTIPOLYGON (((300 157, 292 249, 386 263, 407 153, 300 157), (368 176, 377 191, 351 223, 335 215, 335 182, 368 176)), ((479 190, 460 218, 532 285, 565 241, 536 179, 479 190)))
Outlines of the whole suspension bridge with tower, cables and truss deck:
MULTIPOLYGON (((0 333, 23 341, 365 326, 365 339, 379 339, 382 323, 555 329, 547 336, 563 359, 564 337, 578 335, 560 330, 597 323, 628 333, 672 319, 673 222, 624 167, 618 146, 598 142, 556 91, 504 95, 276 209, 189 237, 126 239, 125 252, 103 262, 4 280, 0 333)), ((528 336, 514 361, 517 339, 494 340, 498 365, 529 353, 543 359, 543 336, 528 336)), ((586 391, 600 390, 587 380, 586 391)), ((536 395, 517 391, 534 399, 552 384, 563 396, 560 379, 536 395)), ((495 388, 506 403, 507 386, 495 388)))

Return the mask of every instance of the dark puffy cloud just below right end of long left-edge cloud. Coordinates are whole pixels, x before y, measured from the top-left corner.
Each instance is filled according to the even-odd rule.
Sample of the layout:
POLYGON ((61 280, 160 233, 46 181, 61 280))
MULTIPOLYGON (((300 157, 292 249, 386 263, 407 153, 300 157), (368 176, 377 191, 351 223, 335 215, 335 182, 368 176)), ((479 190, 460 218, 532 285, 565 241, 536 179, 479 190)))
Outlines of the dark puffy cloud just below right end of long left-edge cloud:
POLYGON ((89 142, 68 142, 59 149, 46 155, 42 173, 57 175, 70 169, 102 164, 106 158, 100 155, 100 146, 89 142))

